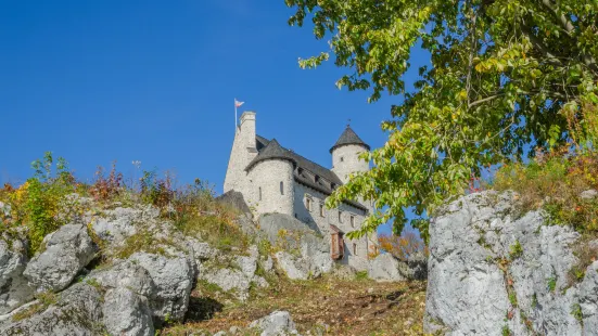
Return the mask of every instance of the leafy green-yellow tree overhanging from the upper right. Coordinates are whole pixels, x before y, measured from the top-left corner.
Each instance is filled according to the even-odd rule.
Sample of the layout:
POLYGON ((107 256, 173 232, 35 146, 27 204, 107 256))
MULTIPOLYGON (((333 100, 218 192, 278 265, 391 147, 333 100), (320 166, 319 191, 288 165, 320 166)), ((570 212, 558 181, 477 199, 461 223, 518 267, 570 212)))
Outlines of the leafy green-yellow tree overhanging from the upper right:
MULTIPOLYGON (((330 51, 300 60, 315 68, 334 55, 348 69, 339 88, 399 95, 390 133, 365 153, 373 168, 329 197, 362 197, 376 210, 359 236, 389 220, 399 234, 405 209, 433 214, 462 194, 484 167, 519 160, 529 145, 591 150, 597 131, 596 0, 285 0, 290 25, 314 23, 330 51), (430 53, 415 90, 404 75, 416 46, 430 53)), ((534 151, 531 151, 532 153, 534 151)), ((427 221, 415 227, 427 236, 427 221)))

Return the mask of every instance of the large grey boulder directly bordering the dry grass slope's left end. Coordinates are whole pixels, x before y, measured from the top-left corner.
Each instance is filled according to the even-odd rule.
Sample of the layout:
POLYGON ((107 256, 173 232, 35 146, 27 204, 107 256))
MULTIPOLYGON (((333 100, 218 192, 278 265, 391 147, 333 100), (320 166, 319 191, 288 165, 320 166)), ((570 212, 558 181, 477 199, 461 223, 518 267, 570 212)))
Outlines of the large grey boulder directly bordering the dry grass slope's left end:
POLYGON ((167 249, 166 255, 136 253, 129 260, 148 270, 155 285, 155 295, 150 302, 153 315, 158 321, 166 316, 181 320, 189 307, 189 295, 195 280, 195 262, 188 255, 167 249))

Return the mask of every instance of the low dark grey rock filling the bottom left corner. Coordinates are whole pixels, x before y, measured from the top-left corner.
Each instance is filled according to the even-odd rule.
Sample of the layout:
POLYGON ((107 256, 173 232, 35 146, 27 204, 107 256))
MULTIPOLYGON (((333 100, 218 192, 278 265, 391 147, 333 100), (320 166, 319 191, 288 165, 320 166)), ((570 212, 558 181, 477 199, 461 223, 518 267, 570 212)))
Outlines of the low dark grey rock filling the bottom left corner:
MULTIPOLYGON (((0 335, 103 335, 102 296, 93 286, 78 283, 60 293, 55 305, 21 321, 8 320, 0 335)), ((41 303, 34 303, 41 305, 41 303)), ((21 309, 31 309, 31 307, 21 309)))

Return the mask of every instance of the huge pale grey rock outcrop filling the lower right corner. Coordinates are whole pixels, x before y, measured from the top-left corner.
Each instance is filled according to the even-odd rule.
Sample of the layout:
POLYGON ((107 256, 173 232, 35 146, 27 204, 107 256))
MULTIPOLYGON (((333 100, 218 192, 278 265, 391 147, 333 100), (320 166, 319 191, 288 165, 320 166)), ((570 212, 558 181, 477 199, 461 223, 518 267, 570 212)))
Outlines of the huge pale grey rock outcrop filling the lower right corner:
POLYGON ((514 193, 461 197, 430 224, 424 326, 447 335, 596 335, 595 261, 568 273, 580 234, 520 216, 514 193))

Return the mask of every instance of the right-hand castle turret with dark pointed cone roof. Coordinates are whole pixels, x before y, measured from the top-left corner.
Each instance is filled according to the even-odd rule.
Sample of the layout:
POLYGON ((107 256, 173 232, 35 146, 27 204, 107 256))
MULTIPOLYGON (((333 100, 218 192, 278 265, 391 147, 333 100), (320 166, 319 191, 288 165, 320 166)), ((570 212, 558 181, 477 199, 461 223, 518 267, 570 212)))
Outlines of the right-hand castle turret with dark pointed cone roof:
POLYGON ((359 159, 359 155, 369 150, 370 146, 347 125, 336 143, 330 148, 332 171, 343 183, 348 181, 348 176, 352 172, 368 171, 370 169, 369 161, 359 159))

